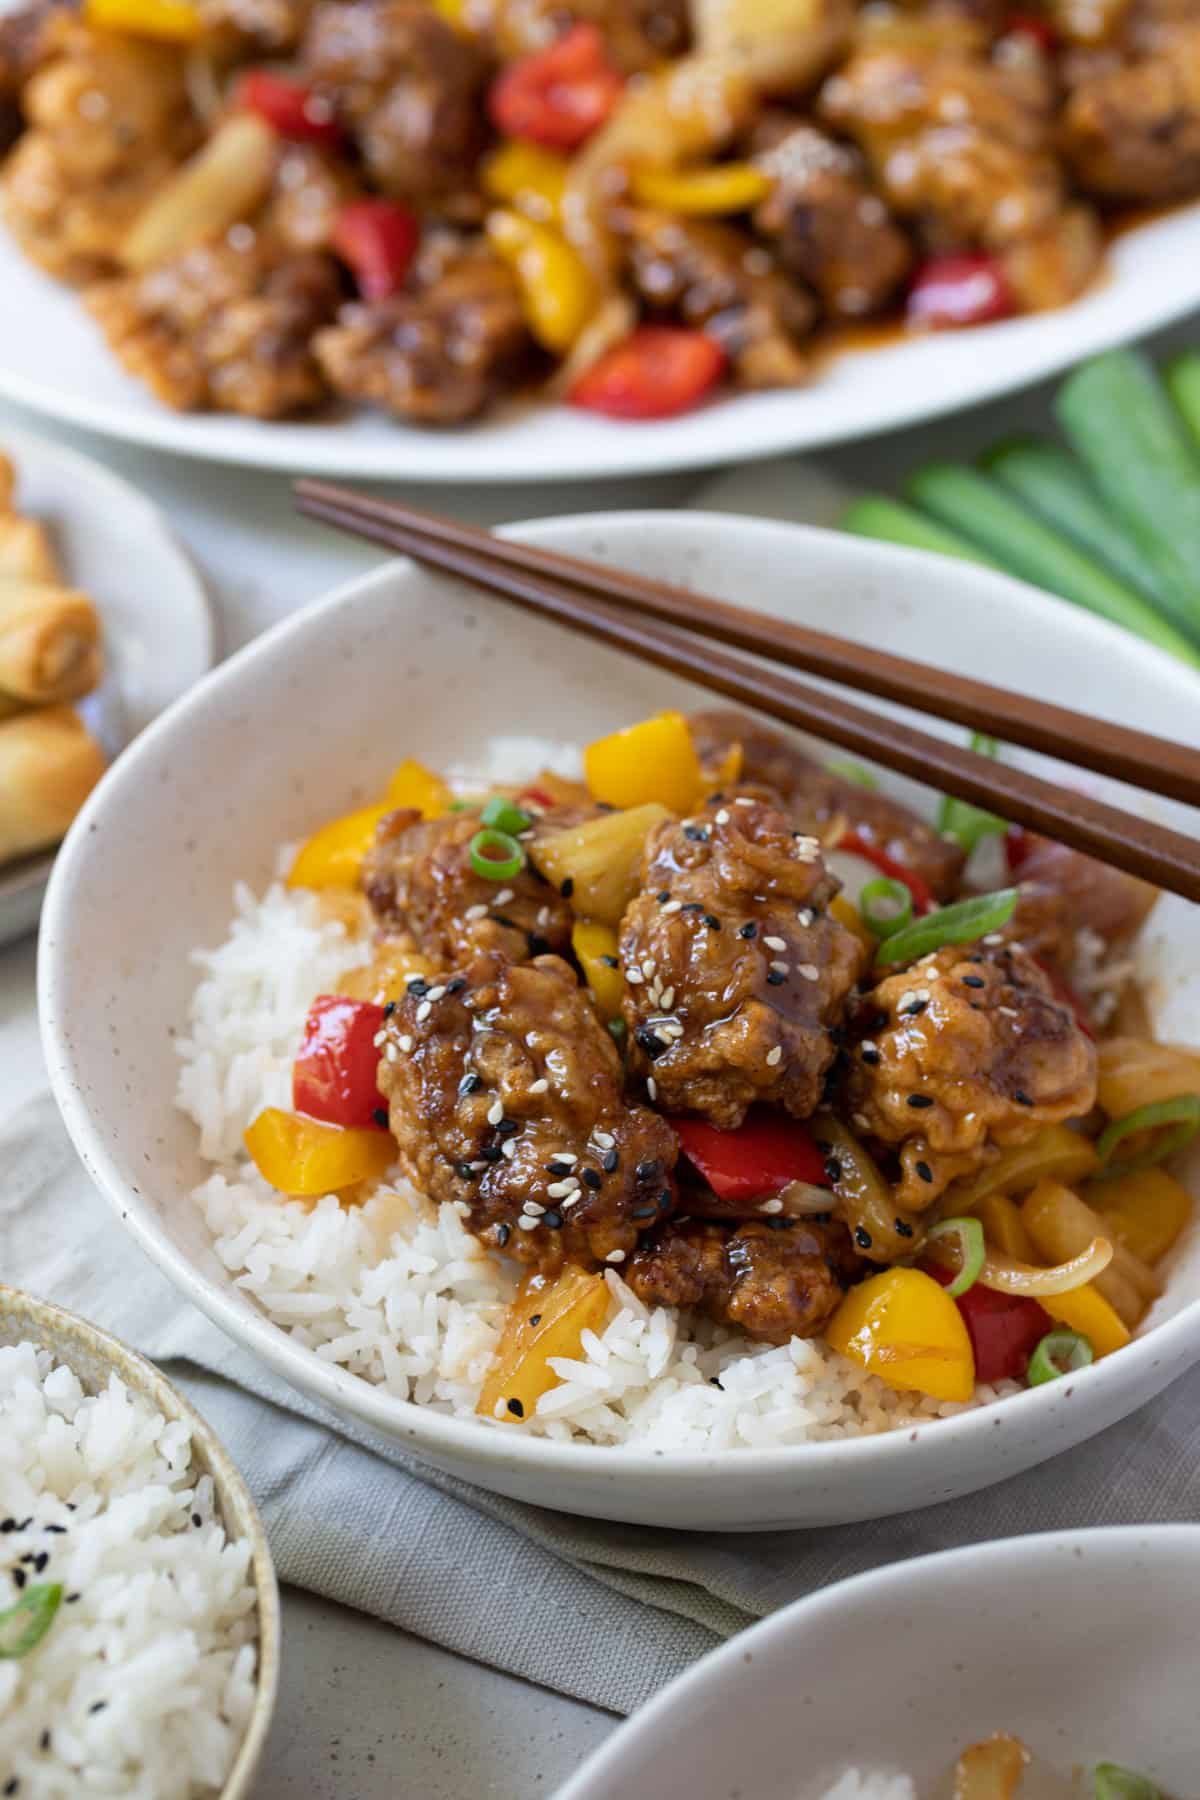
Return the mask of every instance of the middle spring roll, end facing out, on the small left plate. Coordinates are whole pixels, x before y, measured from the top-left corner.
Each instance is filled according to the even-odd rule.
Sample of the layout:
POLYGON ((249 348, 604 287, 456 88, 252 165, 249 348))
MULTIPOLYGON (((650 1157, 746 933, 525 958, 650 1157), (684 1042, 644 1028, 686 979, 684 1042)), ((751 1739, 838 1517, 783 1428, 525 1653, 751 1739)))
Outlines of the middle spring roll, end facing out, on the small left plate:
POLYGON ((0 693, 38 706, 76 700, 101 673, 101 626, 86 594, 0 580, 0 693))

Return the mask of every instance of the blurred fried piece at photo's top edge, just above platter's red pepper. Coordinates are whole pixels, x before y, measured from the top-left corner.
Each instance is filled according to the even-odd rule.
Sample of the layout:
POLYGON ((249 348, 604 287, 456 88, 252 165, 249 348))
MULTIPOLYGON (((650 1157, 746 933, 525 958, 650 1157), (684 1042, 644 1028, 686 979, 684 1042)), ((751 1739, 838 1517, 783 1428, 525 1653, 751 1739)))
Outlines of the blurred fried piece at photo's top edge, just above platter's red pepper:
POLYGON ((464 18, 506 61, 545 50, 570 25, 597 25, 630 76, 682 56, 691 41, 687 0, 466 0, 464 18))

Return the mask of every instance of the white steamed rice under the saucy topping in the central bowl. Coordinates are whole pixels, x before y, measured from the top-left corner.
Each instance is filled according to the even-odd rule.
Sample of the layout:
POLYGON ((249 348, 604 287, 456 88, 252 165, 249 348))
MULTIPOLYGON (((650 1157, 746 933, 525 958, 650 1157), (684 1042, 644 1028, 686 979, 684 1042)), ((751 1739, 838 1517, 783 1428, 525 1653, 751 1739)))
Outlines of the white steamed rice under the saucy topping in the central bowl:
MULTIPOLYGON (((241 1134, 263 1107, 290 1107, 311 999, 369 959, 363 938, 320 900, 239 886, 228 938, 198 950, 201 970, 180 1040, 178 1103, 200 1129, 212 1174, 194 1190, 218 1256, 282 1330, 326 1363, 401 1400, 475 1417, 504 1310, 506 1267, 470 1237, 455 1206, 405 1181, 365 1204, 284 1201, 248 1163, 241 1134)), ((610 1316, 522 1426, 558 1440, 648 1449, 761 1449, 912 1426, 963 1411, 896 1393, 820 1341, 752 1345, 703 1319, 644 1307, 606 1271, 610 1316)), ((1015 1391, 977 1388, 973 1406, 1015 1391)), ((491 1420, 480 1424, 489 1426, 491 1420)))

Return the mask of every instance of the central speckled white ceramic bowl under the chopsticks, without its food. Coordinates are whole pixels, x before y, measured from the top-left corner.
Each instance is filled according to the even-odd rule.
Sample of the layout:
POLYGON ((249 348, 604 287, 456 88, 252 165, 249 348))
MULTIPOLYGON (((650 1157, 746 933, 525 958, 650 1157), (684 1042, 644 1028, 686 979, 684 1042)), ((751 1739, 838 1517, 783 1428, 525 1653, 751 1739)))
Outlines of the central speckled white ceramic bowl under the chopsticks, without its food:
MULTIPOLYGON (((560 518, 520 535, 752 596, 1186 742, 1200 733, 1195 675, 964 563, 696 513, 560 518)), ((277 626, 126 752, 59 855, 40 958, 58 1102, 101 1190, 182 1292, 297 1388, 466 1480, 569 1512, 727 1530, 860 1519, 970 1492, 1101 1431, 1200 1357, 1196 1271, 1177 1271, 1160 1309, 1173 1316, 1132 1348, 993 1411, 786 1451, 664 1456, 549 1444, 389 1399, 272 1325, 187 1199, 209 1170, 173 1107, 171 1040, 196 979, 187 952, 225 936, 236 878, 264 886, 279 842, 362 805, 405 754, 462 763, 513 731, 578 745, 666 702, 702 700, 403 562, 277 626)), ((1168 1010, 1180 963, 1200 979, 1196 931, 1191 907, 1155 911, 1168 1010)), ((1182 1035, 1195 1033, 1196 1008, 1182 1012, 1182 1035)))

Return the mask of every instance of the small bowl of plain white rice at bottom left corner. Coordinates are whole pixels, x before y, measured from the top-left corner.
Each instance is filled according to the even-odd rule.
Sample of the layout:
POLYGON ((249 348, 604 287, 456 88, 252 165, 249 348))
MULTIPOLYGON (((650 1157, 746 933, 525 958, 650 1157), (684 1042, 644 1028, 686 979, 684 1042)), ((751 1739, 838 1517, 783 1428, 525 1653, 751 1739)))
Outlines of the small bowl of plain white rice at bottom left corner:
POLYGON ((270 1550, 205 1422, 0 1287, 0 1793, 243 1800, 277 1674, 270 1550))

